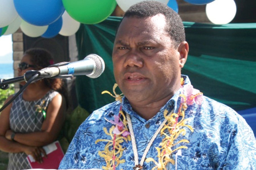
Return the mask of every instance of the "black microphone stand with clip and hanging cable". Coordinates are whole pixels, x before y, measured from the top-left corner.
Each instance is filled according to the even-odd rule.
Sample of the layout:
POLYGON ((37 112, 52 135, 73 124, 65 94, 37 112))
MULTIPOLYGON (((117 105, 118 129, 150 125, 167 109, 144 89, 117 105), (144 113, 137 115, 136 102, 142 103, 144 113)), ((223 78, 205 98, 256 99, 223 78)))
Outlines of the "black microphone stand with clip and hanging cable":
MULTIPOLYGON (((59 67, 62 65, 67 65, 69 62, 61 62, 57 64, 50 65, 49 67, 59 67)), ((6 90, 9 88, 9 84, 12 83, 17 83, 17 82, 22 82, 26 81, 27 83, 9 100, 3 107, 0 109, 0 112, 3 111, 10 103, 14 101, 18 97, 18 95, 21 94, 25 90, 25 88, 32 82, 41 80, 43 78, 68 78, 71 77, 72 75, 58 75, 51 77, 51 71, 48 71, 48 69, 42 69, 42 70, 28 70, 24 74, 24 76, 19 76, 16 78, 10 78, 10 79, 0 79, 0 88, 3 90, 6 90)))

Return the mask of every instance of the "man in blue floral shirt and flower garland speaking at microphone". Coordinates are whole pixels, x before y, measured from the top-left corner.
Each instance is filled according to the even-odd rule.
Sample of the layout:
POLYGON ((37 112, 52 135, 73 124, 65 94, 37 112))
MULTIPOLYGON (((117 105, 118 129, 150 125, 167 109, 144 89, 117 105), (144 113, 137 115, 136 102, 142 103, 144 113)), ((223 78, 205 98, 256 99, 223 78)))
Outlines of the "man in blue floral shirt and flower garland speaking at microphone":
POLYGON ((117 101, 87 118, 59 169, 255 169, 245 120, 181 75, 188 50, 172 9, 154 1, 130 7, 112 54, 125 97, 114 91, 117 101))

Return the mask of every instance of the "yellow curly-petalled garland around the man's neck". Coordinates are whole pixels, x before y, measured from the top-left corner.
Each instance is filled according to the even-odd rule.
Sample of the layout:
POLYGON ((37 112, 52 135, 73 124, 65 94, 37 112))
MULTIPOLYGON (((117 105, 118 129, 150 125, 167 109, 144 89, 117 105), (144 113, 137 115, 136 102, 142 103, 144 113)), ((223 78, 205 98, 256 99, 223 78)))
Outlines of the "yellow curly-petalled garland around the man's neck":
MULTIPOLYGON (((181 78, 181 86, 183 86, 184 80, 181 78)), ((115 97, 116 101, 122 102, 122 94, 117 95, 115 92, 115 88, 117 87, 117 84, 113 86, 113 93, 112 95, 108 91, 103 91, 102 94, 110 94, 112 97, 115 97)), ((202 94, 200 92, 200 94, 202 94)), ((184 103, 181 102, 178 112, 177 113, 172 113, 168 115, 168 111, 164 111, 164 118, 167 120, 167 123, 163 126, 163 128, 160 130, 160 135, 164 136, 162 139, 162 142, 159 144, 159 147, 156 147, 156 150, 158 152, 158 162, 156 162, 153 158, 147 158, 145 161, 148 162, 154 162, 156 164, 155 167, 153 167, 152 170, 157 169, 165 169, 166 170, 166 165, 170 162, 172 164, 175 164, 175 160, 170 157, 170 155, 179 150, 179 149, 187 149, 187 146, 179 146, 177 148, 173 148, 179 143, 189 143, 187 139, 181 139, 174 143, 174 140, 178 138, 178 136, 185 135, 186 134, 186 129, 182 127, 187 127, 191 132, 193 132, 193 128, 189 125, 186 125, 185 123, 187 122, 187 119, 184 119, 185 117, 185 110, 187 109, 187 104, 186 104, 186 96, 183 94, 179 95, 184 99, 184 103), (178 118, 181 116, 181 120, 178 122, 178 118), (169 135, 167 134, 169 133, 169 135)), ((196 97, 195 95, 194 97, 196 97)), ((124 129, 121 131, 119 135, 113 134, 113 130, 115 128, 115 125, 113 125, 109 132, 108 130, 104 127, 103 130, 104 132, 111 137, 112 140, 109 139, 98 139, 95 141, 95 144, 98 142, 107 142, 106 146, 104 147, 103 151, 98 151, 98 154, 103 157, 106 161, 106 166, 102 166, 102 169, 104 170, 115 170, 115 167, 117 167, 120 163, 125 163, 125 160, 121 159, 123 155, 123 150, 124 148, 122 147, 122 143, 124 141, 128 142, 131 140, 130 135, 127 137, 122 136, 122 133, 125 131, 129 131, 127 128, 127 120, 125 118, 125 115, 123 114, 122 110, 119 111, 119 115, 123 116, 123 125, 124 129)), ((121 119, 119 119, 121 121, 121 119)), ((116 125, 117 126, 117 125, 116 125)), ((139 166, 139 165, 136 165, 139 166)), ((140 168, 142 169, 142 167, 140 168)))

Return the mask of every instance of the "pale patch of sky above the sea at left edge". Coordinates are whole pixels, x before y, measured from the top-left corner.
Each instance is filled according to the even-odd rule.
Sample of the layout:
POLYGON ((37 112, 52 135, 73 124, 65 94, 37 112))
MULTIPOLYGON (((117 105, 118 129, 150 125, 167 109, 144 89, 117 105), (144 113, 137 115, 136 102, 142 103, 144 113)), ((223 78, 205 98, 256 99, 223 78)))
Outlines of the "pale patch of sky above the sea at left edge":
POLYGON ((0 64, 13 63, 13 42, 12 35, 0 37, 0 64))

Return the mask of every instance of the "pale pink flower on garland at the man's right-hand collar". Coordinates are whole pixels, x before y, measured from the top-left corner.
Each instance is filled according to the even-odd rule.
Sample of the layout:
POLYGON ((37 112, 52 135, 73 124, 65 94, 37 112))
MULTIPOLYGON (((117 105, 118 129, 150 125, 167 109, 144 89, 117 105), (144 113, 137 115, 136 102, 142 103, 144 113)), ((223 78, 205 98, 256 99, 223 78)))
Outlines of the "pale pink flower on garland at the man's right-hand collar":
POLYGON ((185 84, 183 86, 184 95, 186 96, 186 101, 183 97, 181 97, 182 103, 187 103, 187 105, 193 105, 195 101, 196 104, 201 105, 203 102, 203 93, 199 90, 194 89, 191 84, 185 84))

